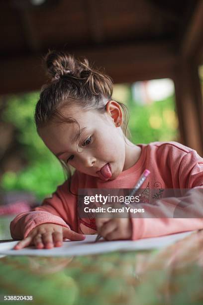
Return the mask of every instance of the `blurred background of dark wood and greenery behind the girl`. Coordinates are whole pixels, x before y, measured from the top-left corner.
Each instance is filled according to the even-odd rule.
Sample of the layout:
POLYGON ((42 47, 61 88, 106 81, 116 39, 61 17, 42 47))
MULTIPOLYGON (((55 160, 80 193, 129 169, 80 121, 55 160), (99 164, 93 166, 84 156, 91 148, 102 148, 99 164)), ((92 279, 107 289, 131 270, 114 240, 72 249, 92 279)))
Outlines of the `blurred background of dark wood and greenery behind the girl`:
POLYGON ((7 0, 0 11, 0 215, 64 181, 33 123, 49 49, 105 69, 135 144, 177 141, 203 155, 202 0, 7 0))

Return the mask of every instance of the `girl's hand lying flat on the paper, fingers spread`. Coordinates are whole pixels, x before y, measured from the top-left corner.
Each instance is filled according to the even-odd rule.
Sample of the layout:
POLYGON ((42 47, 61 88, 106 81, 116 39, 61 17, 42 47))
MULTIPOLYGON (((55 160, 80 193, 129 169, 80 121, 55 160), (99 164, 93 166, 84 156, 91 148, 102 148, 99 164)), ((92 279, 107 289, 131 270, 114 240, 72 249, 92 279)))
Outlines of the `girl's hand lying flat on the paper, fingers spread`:
POLYGON ((38 249, 61 247, 63 244, 63 238, 68 238, 70 240, 84 240, 85 235, 76 233, 61 225, 43 223, 32 229, 27 237, 19 241, 13 249, 19 250, 31 245, 35 245, 38 249))

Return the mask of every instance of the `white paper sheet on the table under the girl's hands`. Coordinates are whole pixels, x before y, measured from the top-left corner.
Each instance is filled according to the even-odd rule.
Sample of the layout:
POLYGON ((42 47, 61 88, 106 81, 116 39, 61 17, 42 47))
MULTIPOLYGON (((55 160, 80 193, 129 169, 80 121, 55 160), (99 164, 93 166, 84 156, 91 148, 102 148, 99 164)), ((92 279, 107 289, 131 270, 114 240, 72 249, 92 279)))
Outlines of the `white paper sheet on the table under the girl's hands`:
POLYGON ((149 250, 160 249, 167 247, 176 241, 183 239, 194 231, 172 234, 161 237, 145 238, 136 241, 104 241, 100 240, 95 243, 97 235, 86 235, 83 241, 63 242, 61 247, 52 249, 36 249, 34 246, 26 247, 21 250, 13 250, 12 248, 18 241, 0 243, 0 256, 4 255, 34 255, 34 256, 77 256, 88 254, 101 254, 112 251, 135 251, 135 250, 149 250))

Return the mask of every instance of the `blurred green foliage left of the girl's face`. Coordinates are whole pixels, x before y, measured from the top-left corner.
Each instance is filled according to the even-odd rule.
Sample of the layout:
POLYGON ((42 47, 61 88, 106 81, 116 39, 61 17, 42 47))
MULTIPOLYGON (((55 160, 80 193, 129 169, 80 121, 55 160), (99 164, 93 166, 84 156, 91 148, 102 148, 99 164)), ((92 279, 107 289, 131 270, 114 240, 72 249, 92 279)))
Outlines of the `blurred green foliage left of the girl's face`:
POLYGON ((20 172, 6 172, 0 186, 4 190, 26 190, 37 199, 50 195, 63 183, 64 172, 58 159, 48 150, 38 136, 33 121, 39 93, 10 96, 3 112, 4 121, 17 130, 17 141, 23 147, 28 165, 20 172))

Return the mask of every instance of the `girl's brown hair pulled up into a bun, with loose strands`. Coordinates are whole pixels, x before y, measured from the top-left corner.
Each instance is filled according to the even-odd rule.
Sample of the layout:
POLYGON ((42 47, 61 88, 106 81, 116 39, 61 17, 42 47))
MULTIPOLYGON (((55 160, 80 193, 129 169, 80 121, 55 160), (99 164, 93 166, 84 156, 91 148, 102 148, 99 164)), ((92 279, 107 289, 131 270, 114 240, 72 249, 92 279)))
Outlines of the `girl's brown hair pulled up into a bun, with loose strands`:
MULTIPOLYGON (((112 80, 100 70, 93 69, 87 59, 83 61, 65 52, 49 51, 45 56, 46 69, 51 82, 42 87, 34 114, 37 131, 47 123, 79 123, 74 118, 67 118, 61 109, 77 103, 82 109, 96 109, 105 113, 103 98, 111 100, 112 80)), ((127 107, 116 101, 123 110, 124 135, 129 121, 127 107)), ((79 135, 80 137, 80 135, 79 135)), ((71 167, 60 160, 65 173, 71 176, 71 167)))

